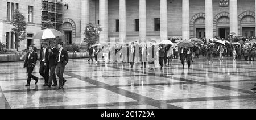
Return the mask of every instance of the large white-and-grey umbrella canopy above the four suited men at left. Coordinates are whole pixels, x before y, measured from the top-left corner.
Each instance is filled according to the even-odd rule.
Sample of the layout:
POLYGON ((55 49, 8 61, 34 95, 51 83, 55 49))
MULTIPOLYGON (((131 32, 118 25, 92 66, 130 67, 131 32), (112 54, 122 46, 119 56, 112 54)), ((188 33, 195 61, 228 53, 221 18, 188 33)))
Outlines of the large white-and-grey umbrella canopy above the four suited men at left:
POLYGON ((63 34, 55 29, 44 29, 37 32, 33 39, 48 39, 56 38, 58 36, 63 36, 63 34))

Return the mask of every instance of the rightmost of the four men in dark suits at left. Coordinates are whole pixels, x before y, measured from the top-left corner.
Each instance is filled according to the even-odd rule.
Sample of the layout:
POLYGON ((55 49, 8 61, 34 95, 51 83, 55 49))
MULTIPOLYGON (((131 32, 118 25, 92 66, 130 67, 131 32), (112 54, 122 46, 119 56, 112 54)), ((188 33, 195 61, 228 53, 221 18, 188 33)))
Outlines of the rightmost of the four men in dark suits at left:
POLYGON ((63 85, 65 84, 66 80, 63 78, 63 73, 65 71, 65 66, 68 64, 68 52, 63 49, 63 42, 58 43, 59 53, 56 57, 56 73, 59 77, 59 89, 63 89, 63 85))

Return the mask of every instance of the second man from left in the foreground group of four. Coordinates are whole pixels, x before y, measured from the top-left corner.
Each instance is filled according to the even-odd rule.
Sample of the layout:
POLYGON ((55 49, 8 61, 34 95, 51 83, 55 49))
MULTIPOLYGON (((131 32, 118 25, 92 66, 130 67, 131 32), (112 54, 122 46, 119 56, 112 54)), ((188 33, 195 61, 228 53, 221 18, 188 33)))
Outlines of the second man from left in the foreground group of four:
POLYGON ((42 44, 42 49, 40 50, 40 69, 39 73, 44 78, 44 86, 48 86, 48 80, 49 80, 49 50, 47 48, 47 44, 42 44))

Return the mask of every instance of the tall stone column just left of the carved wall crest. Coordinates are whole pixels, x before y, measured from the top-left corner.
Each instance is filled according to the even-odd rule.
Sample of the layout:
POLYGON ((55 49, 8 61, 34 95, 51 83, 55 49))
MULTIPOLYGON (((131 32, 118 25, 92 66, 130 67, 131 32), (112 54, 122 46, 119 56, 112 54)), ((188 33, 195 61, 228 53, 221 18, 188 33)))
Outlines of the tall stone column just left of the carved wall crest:
POLYGON ((213 38, 213 0, 205 0, 205 39, 213 38))

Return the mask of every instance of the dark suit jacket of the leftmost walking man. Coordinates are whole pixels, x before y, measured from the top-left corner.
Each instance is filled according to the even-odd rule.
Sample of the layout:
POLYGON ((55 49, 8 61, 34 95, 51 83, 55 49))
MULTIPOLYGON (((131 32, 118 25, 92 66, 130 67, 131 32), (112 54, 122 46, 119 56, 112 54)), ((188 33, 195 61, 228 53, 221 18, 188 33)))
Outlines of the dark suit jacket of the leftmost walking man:
POLYGON ((30 55, 30 57, 28 58, 28 56, 30 55, 30 52, 27 53, 27 56, 26 56, 26 60, 24 62, 24 68, 28 67, 35 67, 36 65, 36 61, 37 61, 37 56, 36 56, 36 53, 33 51, 30 55))

